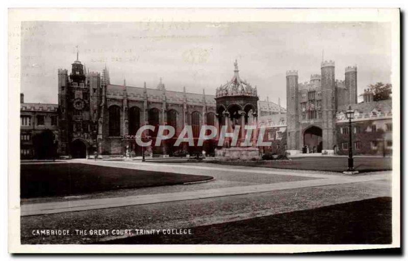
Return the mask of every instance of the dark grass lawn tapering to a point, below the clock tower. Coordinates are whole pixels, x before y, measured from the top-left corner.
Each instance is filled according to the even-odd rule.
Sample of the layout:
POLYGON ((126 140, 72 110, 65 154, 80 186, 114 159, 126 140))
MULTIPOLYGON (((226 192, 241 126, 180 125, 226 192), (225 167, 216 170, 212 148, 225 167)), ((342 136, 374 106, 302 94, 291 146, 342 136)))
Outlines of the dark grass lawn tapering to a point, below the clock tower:
POLYGON ((167 186, 212 178, 81 163, 21 164, 20 167, 21 198, 167 186))

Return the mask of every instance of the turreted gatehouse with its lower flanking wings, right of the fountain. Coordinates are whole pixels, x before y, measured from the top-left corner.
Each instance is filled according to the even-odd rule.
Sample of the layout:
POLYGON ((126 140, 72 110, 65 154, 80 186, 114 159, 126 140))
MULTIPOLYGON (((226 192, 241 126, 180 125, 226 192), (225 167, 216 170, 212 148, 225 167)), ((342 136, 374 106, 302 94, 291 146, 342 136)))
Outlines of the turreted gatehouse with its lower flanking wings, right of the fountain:
POLYGON ((354 154, 392 153, 392 100, 374 101, 369 90, 357 103, 357 68, 345 68, 345 80, 335 80, 335 63, 321 63, 321 74, 299 83, 297 71, 287 71, 287 114, 259 118, 265 128, 264 140, 272 142, 263 152, 290 154, 324 152, 348 153, 348 106, 352 120, 354 154), (284 122, 282 119, 285 119, 284 122), (281 133, 287 140, 282 139, 281 133), (278 135, 277 135, 278 134, 278 135))

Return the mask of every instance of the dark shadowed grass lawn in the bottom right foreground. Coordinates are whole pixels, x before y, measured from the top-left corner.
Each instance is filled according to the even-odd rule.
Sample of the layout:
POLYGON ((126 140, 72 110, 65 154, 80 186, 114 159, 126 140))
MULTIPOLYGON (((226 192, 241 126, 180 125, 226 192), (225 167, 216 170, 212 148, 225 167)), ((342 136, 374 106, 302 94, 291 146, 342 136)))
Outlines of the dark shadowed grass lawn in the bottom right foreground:
POLYGON ((381 197, 97 244, 391 244, 391 216, 381 197))

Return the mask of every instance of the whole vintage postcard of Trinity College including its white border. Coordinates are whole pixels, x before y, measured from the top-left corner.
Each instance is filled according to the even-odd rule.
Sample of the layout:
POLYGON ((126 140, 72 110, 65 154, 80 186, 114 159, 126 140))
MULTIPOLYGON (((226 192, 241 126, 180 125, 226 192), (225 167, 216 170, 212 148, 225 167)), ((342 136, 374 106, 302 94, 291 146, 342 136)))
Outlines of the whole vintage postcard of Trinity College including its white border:
POLYGON ((398 9, 10 9, 9 251, 400 247, 398 9))

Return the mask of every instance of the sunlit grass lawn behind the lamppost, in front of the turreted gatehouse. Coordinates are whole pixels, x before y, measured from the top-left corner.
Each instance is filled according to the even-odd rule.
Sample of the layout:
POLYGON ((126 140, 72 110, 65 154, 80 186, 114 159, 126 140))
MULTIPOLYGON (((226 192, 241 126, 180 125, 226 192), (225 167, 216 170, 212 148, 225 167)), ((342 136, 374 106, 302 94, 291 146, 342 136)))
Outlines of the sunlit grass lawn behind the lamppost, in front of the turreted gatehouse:
MULTIPOLYGON (((287 161, 210 161, 222 165, 240 165, 281 169, 304 169, 343 172, 347 169, 346 157, 307 157, 292 158, 287 161)), ((392 169, 392 158, 354 158, 354 168, 360 172, 392 169)))

